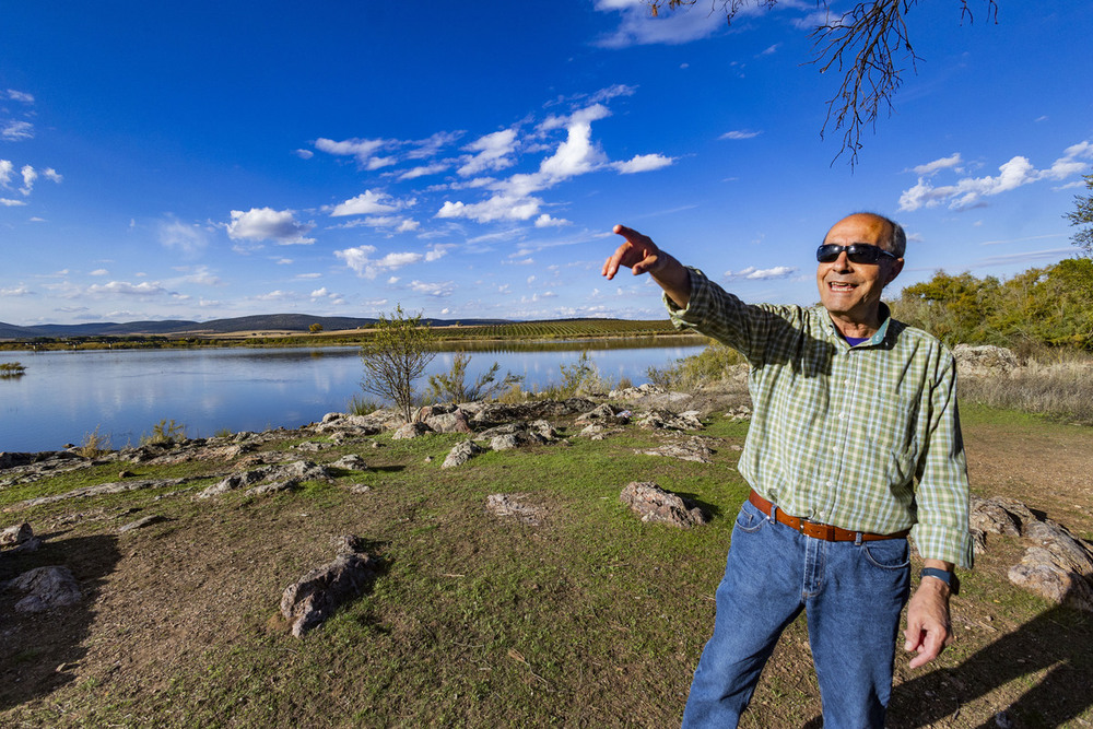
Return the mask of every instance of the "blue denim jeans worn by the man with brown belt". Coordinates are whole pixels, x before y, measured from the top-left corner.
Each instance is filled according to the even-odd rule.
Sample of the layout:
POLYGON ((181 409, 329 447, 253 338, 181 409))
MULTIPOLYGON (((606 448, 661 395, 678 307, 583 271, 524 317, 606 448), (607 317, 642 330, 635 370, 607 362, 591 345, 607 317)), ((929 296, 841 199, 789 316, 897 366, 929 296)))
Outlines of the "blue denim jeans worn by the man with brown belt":
POLYGON ((744 502, 683 727, 736 727, 778 636, 801 610, 824 729, 883 727, 909 589, 906 538, 826 542, 744 502))

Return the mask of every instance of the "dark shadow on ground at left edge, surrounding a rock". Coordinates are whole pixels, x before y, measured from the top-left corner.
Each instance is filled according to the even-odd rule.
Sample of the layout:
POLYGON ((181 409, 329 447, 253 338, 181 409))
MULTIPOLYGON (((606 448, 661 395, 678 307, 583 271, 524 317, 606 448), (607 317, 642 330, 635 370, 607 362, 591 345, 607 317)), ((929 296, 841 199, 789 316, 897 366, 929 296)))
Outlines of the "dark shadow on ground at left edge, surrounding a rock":
POLYGON ((87 649, 84 643, 95 613, 92 605, 121 555, 117 537, 45 540, 36 552, 0 556, 0 583, 45 566, 66 566, 80 584, 79 604, 43 613, 17 613, 24 596, 0 590, 0 710, 47 696, 70 683, 71 669, 87 649))

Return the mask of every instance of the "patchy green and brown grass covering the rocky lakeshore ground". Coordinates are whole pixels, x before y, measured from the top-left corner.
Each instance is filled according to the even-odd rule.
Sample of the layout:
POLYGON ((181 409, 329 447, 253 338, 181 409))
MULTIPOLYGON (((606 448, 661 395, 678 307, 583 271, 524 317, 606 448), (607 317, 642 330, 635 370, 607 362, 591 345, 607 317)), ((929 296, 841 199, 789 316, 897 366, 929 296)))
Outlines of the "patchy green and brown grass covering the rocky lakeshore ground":
MULTIPOLYGON (((973 424, 990 422, 995 412, 972 410, 973 424)), ((457 469, 442 469, 440 462, 461 436, 384 435, 307 455, 332 461, 357 452, 371 467, 333 484, 308 482, 267 497, 231 493, 200 503, 185 494, 155 501, 161 494, 133 492, 23 510, 17 518, 36 531, 72 512, 105 508, 117 516, 67 528, 47 541, 48 555, 35 557, 74 561, 78 579, 94 587, 87 615, 82 622, 71 615, 64 637, 24 644, 19 631, 9 634, 0 666, 17 657, 22 681, 0 682, 0 722, 677 725, 713 624, 712 597, 732 517, 747 492, 733 468, 738 452, 729 447, 745 433, 745 423, 713 418, 703 433, 716 439, 713 466, 636 456, 634 448, 660 440, 631 427, 602 442, 572 438, 569 446, 489 452, 457 469), (372 440, 384 447, 371 448, 372 440), (713 521, 687 531, 640 522, 619 501, 634 480, 693 495, 714 513, 713 521), (371 490, 354 495, 350 483, 371 490), (546 509, 543 525, 486 513, 486 496, 498 492, 531 494, 546 509), (169 520, 114 536, 120 524, 149 514, 169 520), (368 540, 381 574, 321 628, 292 638, 277 618, 281 591, 329 561, 329 540, 341 533, 368 540), (81 539, 103 541, 97 552, 83 544, 66 552, 69 540, 81 539), (81 567, 77 557, 93 560, 110 550, 115 556, 97 566, 81 567), (27 652, 35 646, 40 654, 27 652), (72 652, 80 655, 73 660, 72 652), (68 682, 55 672, 62 662, 75 665, 68 682)), ((92 467, 0 489, 0 507, 35 490, 61 493, 115 480, 119 468, 92 467)), ((139 478, 171 478, 210 475, 225 465, 133 468, 139 478)), ((4 569, 19 567, 16 558, 27 557, 16 555, 4 569)), ((1069 642, 1068 665, 1074 671, 1089 667, 1077 655, 1089 645, 1088 620, 1059 612, 1041 619, 1047 605, 990 571, 964 581, 967 598, 956 600, 959 615, 989 610, 996 625, 1038 620, 1036 630, 1056 620, 1062 623, 1059 637, 1048 647, 1058 651, 1069 642)), ((16 625, 43 637, 33 633, 39 623, 16 625)), ((966 632, 937 673, 948 675, 998 637, 966 632)), ((961 675, 965 683, 980 680, 961 675)), ((1023 692, 1023 682, 1038 675, 1022 673, 1007 691, 1023 692)), ((930 690, 951 693, 940 683, 930 690)), ((964 724, 955 726, 989 719, 996 705, 1008 705, 1008 695, 966 706, 964 724)), ((754 706, 745 726, 801 726, 818 715, 802 624, 787 632, 754 706)))

